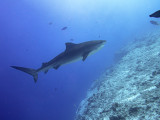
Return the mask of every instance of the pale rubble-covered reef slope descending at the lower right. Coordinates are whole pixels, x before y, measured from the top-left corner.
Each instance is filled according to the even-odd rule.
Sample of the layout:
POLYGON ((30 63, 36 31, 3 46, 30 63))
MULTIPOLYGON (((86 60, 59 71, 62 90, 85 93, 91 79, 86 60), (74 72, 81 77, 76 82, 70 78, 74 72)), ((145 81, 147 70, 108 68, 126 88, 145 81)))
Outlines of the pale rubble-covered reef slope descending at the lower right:
POLYGON ((160 31, 136 38, 115 59, 88 90, 75 120, 160 120, 160 31))

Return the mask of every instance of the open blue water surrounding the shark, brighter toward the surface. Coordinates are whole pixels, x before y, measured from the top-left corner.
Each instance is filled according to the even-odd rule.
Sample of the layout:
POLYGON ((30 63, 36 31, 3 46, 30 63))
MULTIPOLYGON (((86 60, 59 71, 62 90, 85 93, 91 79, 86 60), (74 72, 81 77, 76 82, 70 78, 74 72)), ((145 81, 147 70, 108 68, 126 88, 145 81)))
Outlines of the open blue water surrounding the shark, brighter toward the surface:
POLYGON ((0 1, 0 120, 73 120, 91 83, 114 64, 130 40, 158 29, 149 14, 159 0, 0 1), (67 27, 66 30, 61 30, 67 27), (107 40, 104 48, 37 83, 11 65, 39 68, 65 50, 66 42, 107 40))

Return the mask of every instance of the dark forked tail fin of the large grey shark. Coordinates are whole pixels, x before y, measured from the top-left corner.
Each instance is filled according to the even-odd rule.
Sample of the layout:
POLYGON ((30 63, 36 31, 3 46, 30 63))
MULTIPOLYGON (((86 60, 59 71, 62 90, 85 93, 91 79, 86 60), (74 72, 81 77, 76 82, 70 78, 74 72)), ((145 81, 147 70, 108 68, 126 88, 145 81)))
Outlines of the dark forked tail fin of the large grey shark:
POLYGON ((36 83, 37 82, 37 79, 38 79, 38 73, 35 69, 31 69, 31 68, 24 68, 24 67, 17 67, 17 66, 11 66, 12 68, 14 69, 17 69, 17 70, 20 70, 20 71, 23 71, 25 73, 28 73, 30 75, 33 76, 34 78, 34 82, 36 83))

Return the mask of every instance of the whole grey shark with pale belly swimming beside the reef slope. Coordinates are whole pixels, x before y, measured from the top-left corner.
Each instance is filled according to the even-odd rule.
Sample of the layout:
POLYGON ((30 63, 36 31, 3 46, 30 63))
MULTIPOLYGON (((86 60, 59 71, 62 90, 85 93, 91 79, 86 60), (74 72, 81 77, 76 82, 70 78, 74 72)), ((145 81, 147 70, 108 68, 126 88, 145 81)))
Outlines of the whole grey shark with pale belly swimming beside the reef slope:
POLYGON ((11 67, 32 75, 34 78, 34 82, 37 82, 39 72, 47 73, 51 68, 58 69, 61 65, 68 64, 77 60, 85 61, 87 56, 98 51, 104 46, 105 43, 106 40, 92 40, 79 44, 69 42, 66 43, 66 50, 64 52, 62 52, 49 62, 42 63, 42 66, 38 69, 18 66, 11 67))

